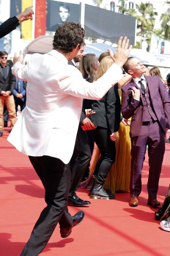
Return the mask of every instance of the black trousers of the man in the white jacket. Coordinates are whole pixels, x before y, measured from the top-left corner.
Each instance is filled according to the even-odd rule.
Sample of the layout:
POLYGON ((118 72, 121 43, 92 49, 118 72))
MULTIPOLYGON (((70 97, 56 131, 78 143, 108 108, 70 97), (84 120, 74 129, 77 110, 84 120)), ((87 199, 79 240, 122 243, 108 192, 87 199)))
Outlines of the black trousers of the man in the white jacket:
POLYGON ((60 159, 50 156, 29 156, 29 159, 45 188, 47 207, 35 223, 21 256, 38 255, 46 246, 58 222, 61 228, 71 227, 73 223, 67 208, 69 164, 64 164, 60 159))

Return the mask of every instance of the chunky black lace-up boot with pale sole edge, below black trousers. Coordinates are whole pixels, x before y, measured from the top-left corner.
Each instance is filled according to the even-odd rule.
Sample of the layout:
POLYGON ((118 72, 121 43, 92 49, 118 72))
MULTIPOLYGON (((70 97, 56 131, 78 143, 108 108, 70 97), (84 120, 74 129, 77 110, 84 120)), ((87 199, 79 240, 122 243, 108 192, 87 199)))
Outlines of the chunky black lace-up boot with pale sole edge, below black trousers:
POLYGON ((97 182, 95 180, 93 190, 91 191, 90 195, 91 199, 114 199, 115 194, 110 194, 110 192, 106 192, 105 189, 103 189, 103 184, 97 182))

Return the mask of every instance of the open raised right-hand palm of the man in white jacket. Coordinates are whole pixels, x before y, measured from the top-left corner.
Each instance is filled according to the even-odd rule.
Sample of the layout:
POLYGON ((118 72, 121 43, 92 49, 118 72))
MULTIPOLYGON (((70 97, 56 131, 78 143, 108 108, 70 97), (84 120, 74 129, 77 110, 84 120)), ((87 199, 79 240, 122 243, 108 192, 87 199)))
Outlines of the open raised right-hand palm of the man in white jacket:
POLYGON ((114 54, 111 49, 107 49, 111 59, 113 59, 114 63, 120 67, 122 67, 125 64, 129 56, 129 52, 132 49, 132 45, 129 46, 129 39, 127 39, 127 36, 124 37, 123 41, 122 39, 123 36, 120 36, 120 39, 118 41, 118 47, 114 54))

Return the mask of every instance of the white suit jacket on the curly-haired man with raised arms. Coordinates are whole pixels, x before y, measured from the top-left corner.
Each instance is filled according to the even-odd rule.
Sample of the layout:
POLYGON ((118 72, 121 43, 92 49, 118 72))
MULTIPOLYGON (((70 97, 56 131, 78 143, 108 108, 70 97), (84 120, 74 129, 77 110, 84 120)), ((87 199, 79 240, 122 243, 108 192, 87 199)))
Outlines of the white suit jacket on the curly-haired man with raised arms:
POLYGON ((83 98, 101 99, 123 77, 113 64, 98 81, 86 82, 56 50, 33 54, 27 65, 15 63, 12 73, 27 81, 27 100, 8 141, 26 155, 48 155, 65 164, 74 150, 83 98))

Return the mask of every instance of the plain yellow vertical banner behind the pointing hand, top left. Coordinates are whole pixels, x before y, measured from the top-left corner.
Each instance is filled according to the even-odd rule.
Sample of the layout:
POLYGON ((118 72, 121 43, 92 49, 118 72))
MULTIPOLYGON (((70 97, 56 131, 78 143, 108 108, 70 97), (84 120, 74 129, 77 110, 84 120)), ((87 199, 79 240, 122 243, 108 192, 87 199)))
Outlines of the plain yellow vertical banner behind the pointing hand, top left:
MULTIPOLYGON (((22 12, 32 5, 32 0, 22 0, 22 12)), ((32 40, 32 20, 23 21, 21 23, 21 35, 23 40, 32 40)))

